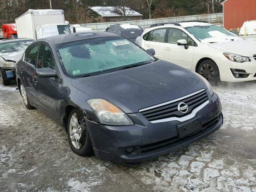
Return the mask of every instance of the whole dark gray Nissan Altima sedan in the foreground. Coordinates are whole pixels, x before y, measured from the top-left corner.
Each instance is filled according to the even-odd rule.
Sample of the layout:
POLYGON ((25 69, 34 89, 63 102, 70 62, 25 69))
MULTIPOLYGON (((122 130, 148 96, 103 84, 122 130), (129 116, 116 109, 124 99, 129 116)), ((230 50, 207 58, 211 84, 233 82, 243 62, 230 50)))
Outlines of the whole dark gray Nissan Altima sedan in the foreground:
POLYGON ((16 64, 28 109, 60 123, 71 149, 101 160, 142 162, 215 132, 218 95, 202 76, 108 32, 32 43, 16 64))

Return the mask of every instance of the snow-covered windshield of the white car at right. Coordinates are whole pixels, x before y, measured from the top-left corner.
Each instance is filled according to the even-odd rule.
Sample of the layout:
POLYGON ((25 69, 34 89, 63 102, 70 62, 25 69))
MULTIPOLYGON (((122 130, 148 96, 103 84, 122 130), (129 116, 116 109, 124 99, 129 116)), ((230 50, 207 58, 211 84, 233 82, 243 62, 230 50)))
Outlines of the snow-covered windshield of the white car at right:
POLYGON ((192 26, 187 27, 186 30, 188 30, 188 32, 194 35, 201 42, 207 43, 221 42, 223 40, 238 38, 226 29, 216 25, 192 26))

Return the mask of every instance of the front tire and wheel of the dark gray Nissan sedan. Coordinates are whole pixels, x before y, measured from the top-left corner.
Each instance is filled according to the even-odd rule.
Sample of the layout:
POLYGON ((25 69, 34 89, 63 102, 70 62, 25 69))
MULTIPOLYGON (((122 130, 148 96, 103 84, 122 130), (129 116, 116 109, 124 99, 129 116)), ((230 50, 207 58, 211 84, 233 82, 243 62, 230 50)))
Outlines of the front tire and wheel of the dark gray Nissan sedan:
POLYGON ((72 151, 80 156, 94 154, 86 120, 80 110, 73 109, 68 117, 68 142, 72 151))

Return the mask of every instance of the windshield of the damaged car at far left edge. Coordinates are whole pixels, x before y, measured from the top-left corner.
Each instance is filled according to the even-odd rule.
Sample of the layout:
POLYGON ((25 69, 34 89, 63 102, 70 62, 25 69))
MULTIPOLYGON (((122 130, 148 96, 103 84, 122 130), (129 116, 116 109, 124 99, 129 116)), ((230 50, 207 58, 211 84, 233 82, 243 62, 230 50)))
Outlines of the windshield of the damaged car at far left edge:
POLYGON ((12 41, 0 43, 0 54, 25 51, 33 40, 12 41))

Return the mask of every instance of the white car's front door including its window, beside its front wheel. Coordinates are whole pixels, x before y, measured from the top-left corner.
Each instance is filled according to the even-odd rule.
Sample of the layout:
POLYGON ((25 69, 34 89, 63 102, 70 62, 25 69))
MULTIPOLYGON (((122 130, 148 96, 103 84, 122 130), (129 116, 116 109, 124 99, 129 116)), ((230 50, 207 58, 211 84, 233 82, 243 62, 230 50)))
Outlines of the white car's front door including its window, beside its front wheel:
POLYGON ((164 44, 165 60, 191 70, 196 43, 180 29, 169 28, 167 34, 167 42, 164 44), (177 44, 181 39, 188 42, 188 49, 177 44))

